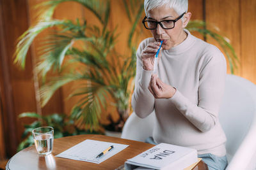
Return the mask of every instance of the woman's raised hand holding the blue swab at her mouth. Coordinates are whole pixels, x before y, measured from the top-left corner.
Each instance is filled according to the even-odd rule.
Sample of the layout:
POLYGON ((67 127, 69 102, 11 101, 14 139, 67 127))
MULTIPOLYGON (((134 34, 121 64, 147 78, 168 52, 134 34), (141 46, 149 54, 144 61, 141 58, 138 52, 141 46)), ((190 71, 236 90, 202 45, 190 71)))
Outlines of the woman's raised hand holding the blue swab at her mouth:
MULTIPOLYGON (((154 59, 160 45, 160 42, 155 41, 154 43, 149 43, 148 46, 142 50, 141 59, 143 63, 143 69, 147 71, 152 71, 154 69, 154 59)), ((158 54, 158 57, 161 57, 161 50, 158 54)))

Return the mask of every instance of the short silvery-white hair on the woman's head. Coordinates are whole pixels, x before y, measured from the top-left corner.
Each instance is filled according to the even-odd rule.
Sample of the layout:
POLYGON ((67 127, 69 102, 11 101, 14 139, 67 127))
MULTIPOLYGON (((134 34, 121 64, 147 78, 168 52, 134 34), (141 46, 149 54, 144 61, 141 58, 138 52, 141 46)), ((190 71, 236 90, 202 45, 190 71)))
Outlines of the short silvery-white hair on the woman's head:
POLYGON ((169 5, 178 15, 188 11, 188 0, 145 0, 144 10, 146 16, 148 11, 163 5, 169 5))

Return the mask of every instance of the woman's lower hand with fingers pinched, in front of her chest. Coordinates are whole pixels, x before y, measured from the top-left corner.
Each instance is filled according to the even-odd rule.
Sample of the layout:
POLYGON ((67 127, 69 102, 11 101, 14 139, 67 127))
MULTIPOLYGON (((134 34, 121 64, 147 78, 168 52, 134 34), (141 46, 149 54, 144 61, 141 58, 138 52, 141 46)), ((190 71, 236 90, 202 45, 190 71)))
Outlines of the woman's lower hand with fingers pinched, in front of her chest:
POLYGON ((163 83, 157 76, 157 74, 152 74, 150 83, 148 85, 148 90, 153 94, 156 99, 168 99, 171 98, 176 89, 166 83, 163 83))

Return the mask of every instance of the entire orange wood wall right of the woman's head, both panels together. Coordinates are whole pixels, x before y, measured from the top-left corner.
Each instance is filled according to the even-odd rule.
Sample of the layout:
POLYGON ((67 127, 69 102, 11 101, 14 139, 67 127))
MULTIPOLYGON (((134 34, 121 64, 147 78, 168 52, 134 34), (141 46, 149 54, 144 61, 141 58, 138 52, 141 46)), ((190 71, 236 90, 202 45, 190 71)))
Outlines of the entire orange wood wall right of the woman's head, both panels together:
MULTIPOLYGON (((206 21, 219 27, 234 46, 239 58, 235 74, 256 83, 256 1, 206 1, 205 11, 206 21)), ((211 39, 209 43, 216 45, 211 39)))

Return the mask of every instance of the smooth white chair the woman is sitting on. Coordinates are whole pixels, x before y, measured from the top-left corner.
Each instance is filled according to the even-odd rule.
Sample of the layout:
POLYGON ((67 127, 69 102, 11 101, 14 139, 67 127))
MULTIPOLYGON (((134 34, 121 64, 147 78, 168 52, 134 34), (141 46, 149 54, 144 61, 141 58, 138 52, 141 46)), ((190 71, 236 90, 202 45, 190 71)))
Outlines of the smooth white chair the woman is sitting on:
MULTIPOLYGON (((127 119, 121 138, 145 141, 152 136, 154 113, 127 119)), ((251 170, 256 167, 256 85, 239 76, 227 75, 220 107, 220 123, 227 136, 227 170, 251 170)))

